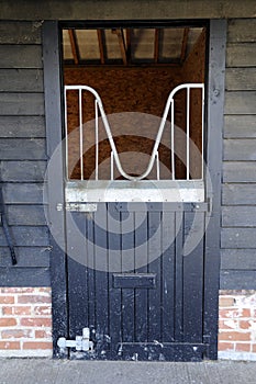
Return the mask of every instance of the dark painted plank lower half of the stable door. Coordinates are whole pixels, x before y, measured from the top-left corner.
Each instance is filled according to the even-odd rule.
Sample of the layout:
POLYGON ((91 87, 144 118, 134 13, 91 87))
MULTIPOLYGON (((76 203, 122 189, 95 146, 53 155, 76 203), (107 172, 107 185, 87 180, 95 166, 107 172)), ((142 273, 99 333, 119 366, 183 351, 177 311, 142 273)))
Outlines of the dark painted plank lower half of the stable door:
POLYGON ((92 214, 67 213, 69 332, 75 338, 91 329, 94 352, 85 359, 133 359, 141 342, 148 347, 135 348, 137 359, 158 360, 157 343, 203 342, 204 215, 197 212, 194 225, 190 208, 176 217, 157 204, 154 212, 154 203, 144 213, 119 212, 115 203, 98 203, 92 214), (183 256, 194 233, 201 240, 183 256))

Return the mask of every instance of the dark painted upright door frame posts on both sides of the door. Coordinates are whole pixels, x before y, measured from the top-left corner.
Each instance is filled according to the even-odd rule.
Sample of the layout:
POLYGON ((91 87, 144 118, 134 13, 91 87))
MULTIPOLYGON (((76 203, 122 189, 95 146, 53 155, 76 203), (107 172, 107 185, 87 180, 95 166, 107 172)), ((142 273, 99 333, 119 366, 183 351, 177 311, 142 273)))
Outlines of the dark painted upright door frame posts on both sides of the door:
MULTIPOLYGON (((165 24, 168 21, 163 21, 165 24)), ((109 22, 111 24, 111 22, 109 22)), ((142 22, 142 26, 149 22, 142 22)), ((153 22, 152 22, 153 23, 153 22)), ((170 21, 170 24, 174 21, 170 21)), ((186 23, 182 21, 181 23, 186 23)), ((187 22, 189 23, 189 21, 187 22)), ((62 113, 62 59, 60 27, 58 21, 45 21, 43 24, 43 61, 46 150, 51 159, 55 148, 63 139, 62 113)), ((204 305, 203 335, 210 343, 208 358, 218 358, 218 318, 219 318, 219 281, 220 281, 220 216, 221 216, 221 173, 222 173, 222 132, 224 112, 226 20, 210 20, 209 70, 207 79, 207 163, 212 188, 207 191, 212 210, 205 233, 204 246, 204 305)), ((57 156, 58 172, 47 174, 48 223, 49 229, 57 230, 58 244, 51 235, 51 279, 53 301, 53 357, 60 358, 56 341, 59 337, 68 338, 68 300, 67 300, 67 257, 65 252, 66 225, 64 211, 64 150, 60 146, 57 156), (51 228, 51 223, 58 223, 51 228), (59 245, 60 244, 60 245, 59 245)), ((208 188, 208 185, 207 185, 208 188)), ((62 355, 62 358, 66 355, 62 355)))

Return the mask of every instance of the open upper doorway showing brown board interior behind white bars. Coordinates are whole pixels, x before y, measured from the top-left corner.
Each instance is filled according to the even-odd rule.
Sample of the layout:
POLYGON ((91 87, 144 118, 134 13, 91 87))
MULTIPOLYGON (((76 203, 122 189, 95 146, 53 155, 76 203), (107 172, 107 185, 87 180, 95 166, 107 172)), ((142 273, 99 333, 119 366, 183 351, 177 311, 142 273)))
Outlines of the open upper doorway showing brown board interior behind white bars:
POLYGON ((86 86, 102 101, 124 173, 135 179, 146 173, 144 181, 186 181, 186 189, 196 181, 199 200, 204 199, 205 41, 204 25, 63 30, 67 180, 125 180, 122 188, 131 188, 86 86), (181 84, 188 87, 175 94, 174 109, 169 105, 147 173, 168 97, 181 84))

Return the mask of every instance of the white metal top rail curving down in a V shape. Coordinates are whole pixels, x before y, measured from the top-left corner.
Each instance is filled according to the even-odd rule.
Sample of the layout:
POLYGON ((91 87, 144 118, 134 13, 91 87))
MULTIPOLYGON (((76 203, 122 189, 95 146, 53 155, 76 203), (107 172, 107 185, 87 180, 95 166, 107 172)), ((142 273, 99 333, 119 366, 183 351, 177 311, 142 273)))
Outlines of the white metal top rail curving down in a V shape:
MULTIPOLYGON (((165 124, 166 124, 166 121, 167 121, 167 115, 168 115, 168 112, 169 112, 169 108, 170 108, 170 105, 174 104, 174 95, 179 90, 188 89, 188 88, 201 88, 201 89, 203 89, 203 83, 185 83, 185 84, 180 84, 180 86, 176 87, 169 93, 169 97, 167 99, 166 106, 165 106, 165 110, 164 110, 164 114, 163 114, 163 117, 162 117, 160 126, 159 126, 158 133, 156 135, 155 145, 154 145, 154 148, 153 148, 153 151, 152 151, 152 156, 151 156, 147 169, 146 169, 146 171, 144 173, 142 173, 138 177, 131 177, 130 174, 127 174, 123 170, 123 168, 121 166, 121 162, 120 162, 120 159, 119 159, 119 154, 118 154, 118 150, 116 150, 113 137, 112 137, 112 133, 111 133, 111 129, 110 129, 110 126, 109 126, 109 122, 108 122, 107 115, 104 113, 102 101, 101 101, 99 94, 96 92, 96 90, 93 88, 88 87, 88 86, 65 86, 65 89, 87 90, 87 91, 91 92, 94 95, 96 100, 98 101, 99 111, 100 111, 100 114, 101 114, 101 117, 102 117, 102 122, 104 124, 104 128, 105 128, 105 133, 108 135, 108 139, 110 142, 110 146, 111 146, 111 149, 112 149, 112 153, 113 153, 113 158, 115 160, 116 168, 118 168, 119 172, 127 180, 142 180, 142 179, 145 179, 151 173, 151 171, 152 171, 152 169, 154 167, 156 151, 158 150, 158 147, 159 147, 159 144, 160 144, 160 139, 162 139, 162 135, 163 135, 163 132, 164 132, 164 128, 165 128, 165 124)), ((171 108, 171 110, 172 110, 172 108, 171 108)), ((172 114, 171 114, 171 118, 174 118, 172 114)), ((172 125, 174 125, 174 123, 172 123, 172 125)), ((174 168, 174 165, 172 165, 172 168, 174 168)), ((172 178, 175 179, 175 173, 172 174, 172 178)))

